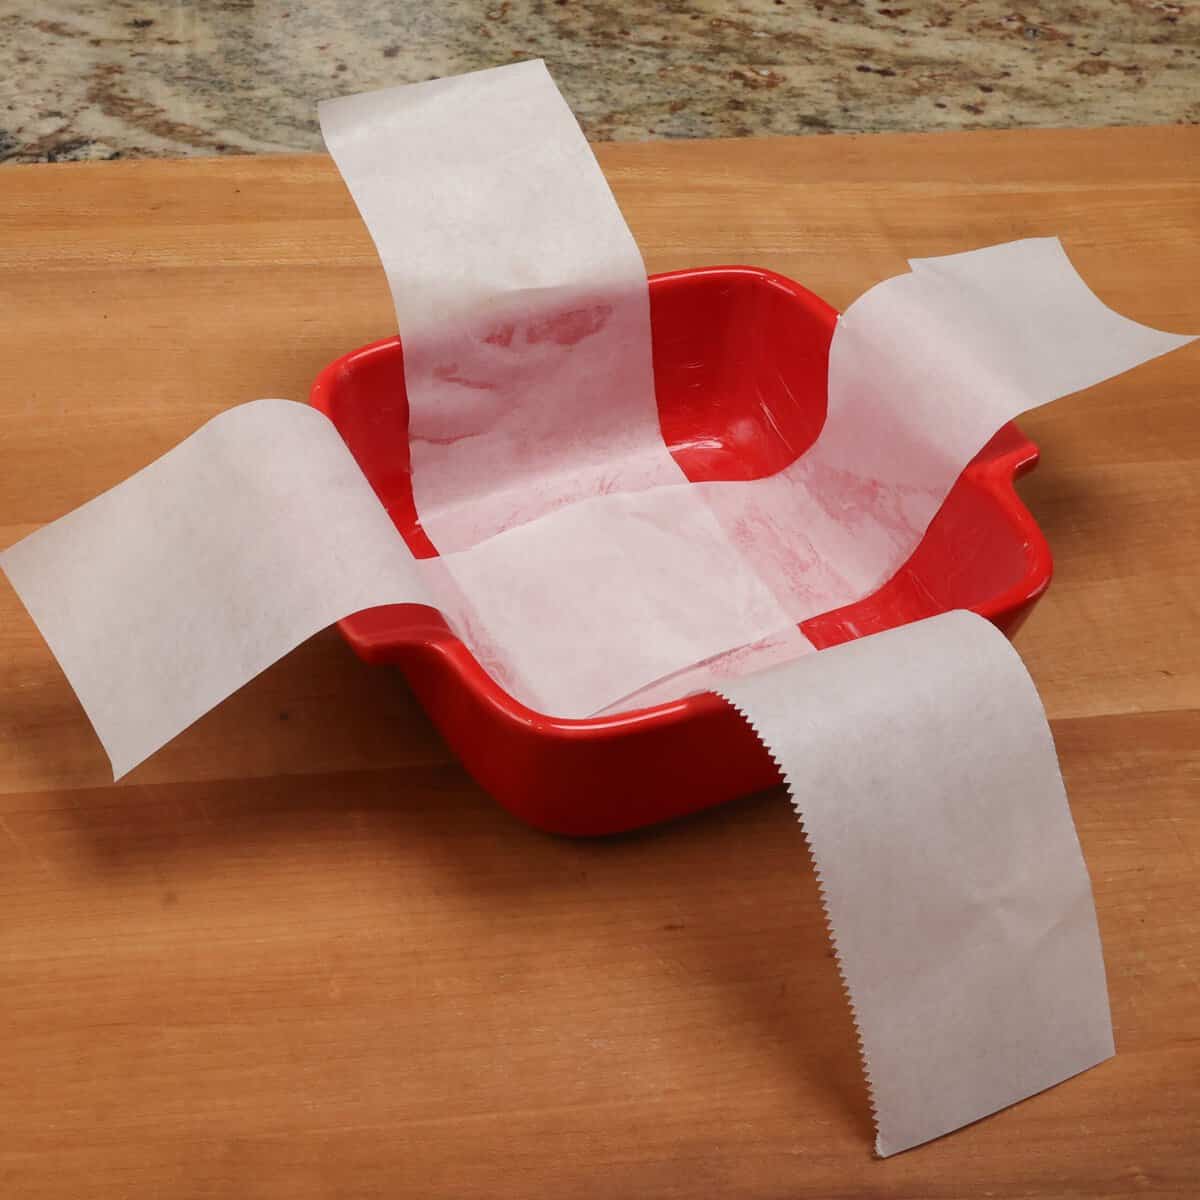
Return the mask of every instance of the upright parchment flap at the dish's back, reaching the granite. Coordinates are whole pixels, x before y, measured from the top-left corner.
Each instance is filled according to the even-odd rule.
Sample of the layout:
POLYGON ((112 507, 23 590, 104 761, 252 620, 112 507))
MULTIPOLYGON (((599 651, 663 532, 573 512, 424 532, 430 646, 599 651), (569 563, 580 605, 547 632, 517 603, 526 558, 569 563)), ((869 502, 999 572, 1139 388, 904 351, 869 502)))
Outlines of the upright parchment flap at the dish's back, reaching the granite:
POLYGON ((684 482, 641 252, 541 61, 326 101, 320 126, 396 304, 438 550, 684 482))

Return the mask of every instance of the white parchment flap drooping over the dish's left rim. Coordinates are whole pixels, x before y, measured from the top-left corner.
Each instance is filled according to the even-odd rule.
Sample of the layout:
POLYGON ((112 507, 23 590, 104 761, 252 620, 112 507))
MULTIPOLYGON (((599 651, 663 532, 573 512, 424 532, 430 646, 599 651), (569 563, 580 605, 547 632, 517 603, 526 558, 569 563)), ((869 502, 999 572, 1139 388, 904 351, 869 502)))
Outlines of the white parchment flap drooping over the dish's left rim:
POLYGON ((221 414, 0 566, 116 778, 347 613, 432 602, 337 430, 287 400, 221 414))

